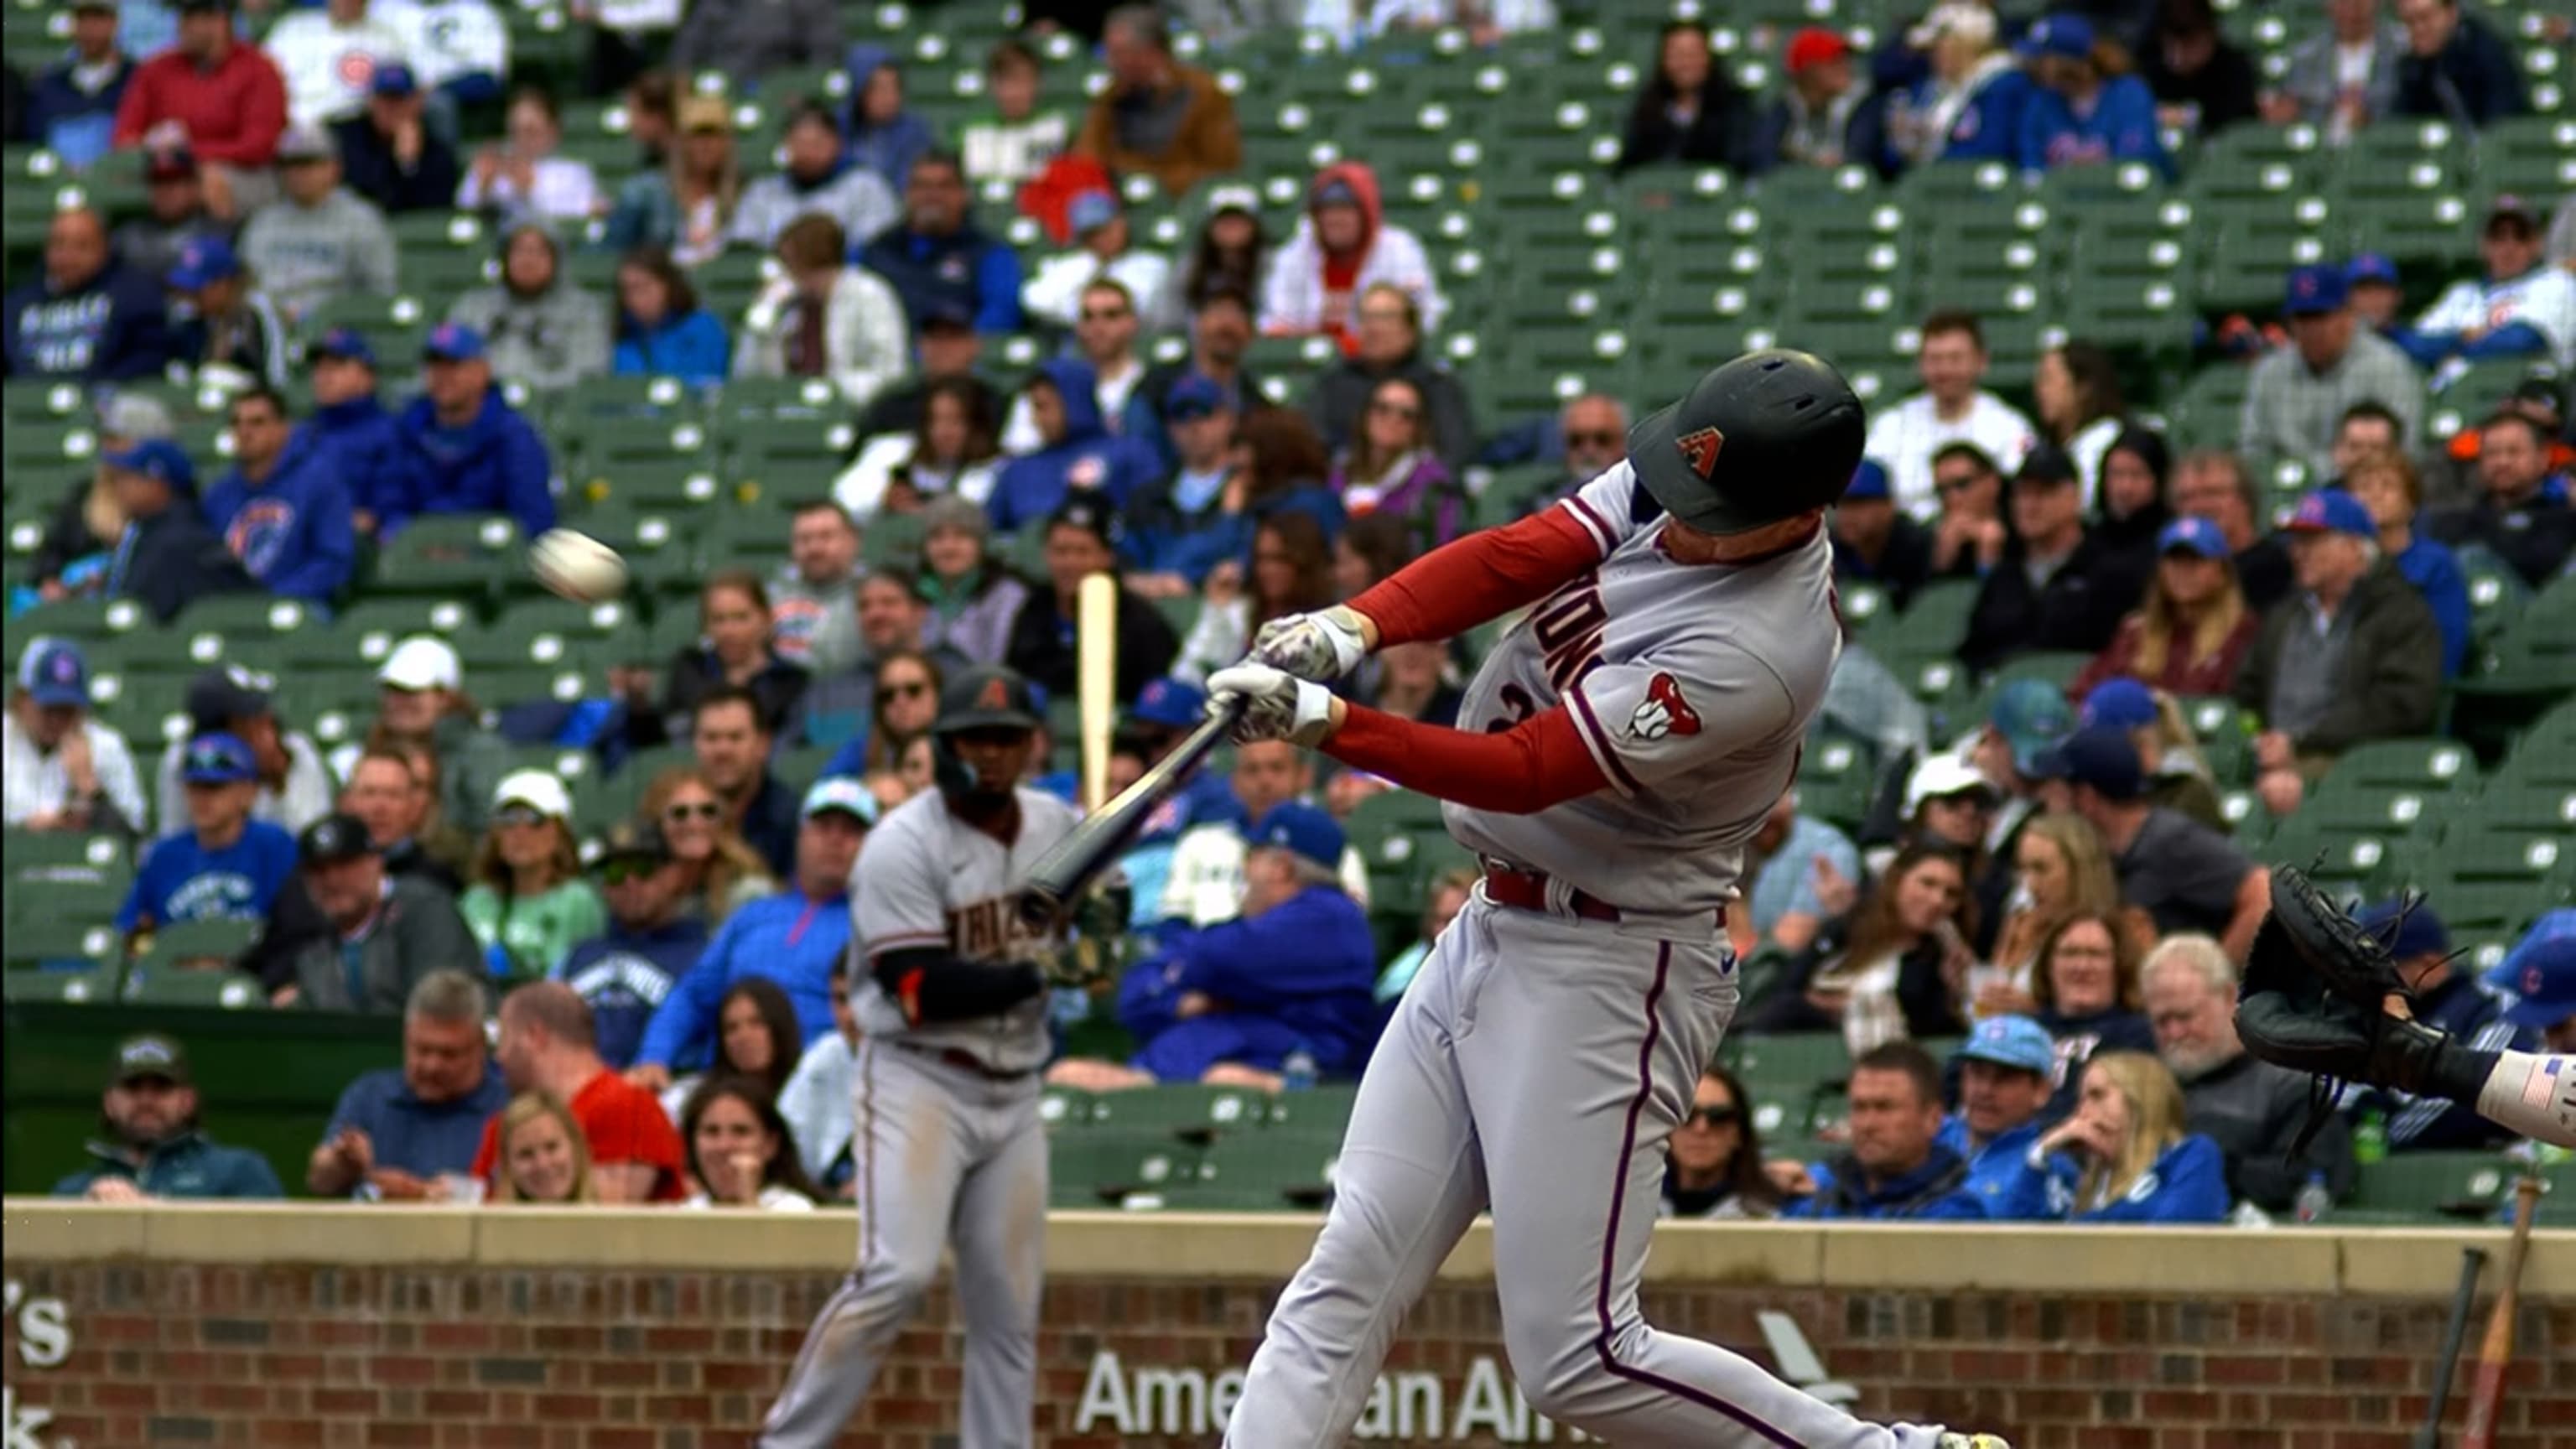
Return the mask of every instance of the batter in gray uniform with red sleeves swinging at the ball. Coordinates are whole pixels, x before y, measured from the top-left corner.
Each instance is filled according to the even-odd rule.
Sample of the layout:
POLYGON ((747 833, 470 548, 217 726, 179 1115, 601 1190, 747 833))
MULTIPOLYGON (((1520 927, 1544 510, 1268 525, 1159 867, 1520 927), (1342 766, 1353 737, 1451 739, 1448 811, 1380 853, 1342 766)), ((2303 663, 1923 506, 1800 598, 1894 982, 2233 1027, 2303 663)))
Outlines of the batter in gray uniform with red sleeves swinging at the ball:
POLYGON ((1736 358, 1553 511, 1273 621, 1208 681, 1239 740, 1288 737, 1448 802, 1486 861, 1360 1083, 1332 1217, 1270 1315, 1226 1431, 1324 1449, 1404 1312, 1494 1212, 1504 1348, 1530 1405, 1628 1446, 1965 1449, 1860 1423, 1638 1315, 1664 1140, 1736 1006, 1726 905, 1798 771, 1842 647, 1824 511, 1860 464, 1850 384, 1736 358), (1368 650, 1530 606, 1461 730, 1345 704, 1368 650))

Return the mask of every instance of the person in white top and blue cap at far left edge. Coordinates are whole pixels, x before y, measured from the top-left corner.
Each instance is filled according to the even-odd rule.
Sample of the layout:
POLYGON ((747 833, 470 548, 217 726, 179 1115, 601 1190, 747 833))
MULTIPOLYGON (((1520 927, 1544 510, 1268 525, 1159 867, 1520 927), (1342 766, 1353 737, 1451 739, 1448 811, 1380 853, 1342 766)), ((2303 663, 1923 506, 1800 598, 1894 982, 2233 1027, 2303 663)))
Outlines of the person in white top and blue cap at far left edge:
POLYGON ((147 820, 134 750, 90 717, 90 660, 70 639, 28 639, 0 717, 0 822, 134 835, 147 820))

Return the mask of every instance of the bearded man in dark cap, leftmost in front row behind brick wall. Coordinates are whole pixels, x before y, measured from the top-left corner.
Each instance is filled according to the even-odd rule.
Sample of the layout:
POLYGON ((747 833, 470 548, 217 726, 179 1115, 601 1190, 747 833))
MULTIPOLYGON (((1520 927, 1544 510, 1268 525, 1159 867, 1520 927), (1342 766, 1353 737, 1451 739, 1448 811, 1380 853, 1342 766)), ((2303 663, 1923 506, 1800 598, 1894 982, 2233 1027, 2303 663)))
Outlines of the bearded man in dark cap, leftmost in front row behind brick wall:
POLYGON ((160 1031, 116 1044, 90 1165, 54 1183, 54 1196, 90 1201, 286 1196, 276 1168, 250 1147, 224 1147, 196 1127, 188 1052, 160 1031))

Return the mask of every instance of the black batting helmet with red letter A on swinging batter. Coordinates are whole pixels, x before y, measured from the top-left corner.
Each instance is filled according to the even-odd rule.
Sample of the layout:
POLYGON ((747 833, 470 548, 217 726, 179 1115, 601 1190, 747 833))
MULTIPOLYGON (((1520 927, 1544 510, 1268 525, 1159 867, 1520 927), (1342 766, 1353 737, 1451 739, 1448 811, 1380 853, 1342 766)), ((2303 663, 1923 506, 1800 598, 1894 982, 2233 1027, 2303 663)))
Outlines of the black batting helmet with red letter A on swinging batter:
POLYGON ((1749 534, 1842 500, 1865 433, 1860 397, 1832 364, 1765 348, 1628 428, 1628 459, 1664 513, 1703 534, 1749 534))

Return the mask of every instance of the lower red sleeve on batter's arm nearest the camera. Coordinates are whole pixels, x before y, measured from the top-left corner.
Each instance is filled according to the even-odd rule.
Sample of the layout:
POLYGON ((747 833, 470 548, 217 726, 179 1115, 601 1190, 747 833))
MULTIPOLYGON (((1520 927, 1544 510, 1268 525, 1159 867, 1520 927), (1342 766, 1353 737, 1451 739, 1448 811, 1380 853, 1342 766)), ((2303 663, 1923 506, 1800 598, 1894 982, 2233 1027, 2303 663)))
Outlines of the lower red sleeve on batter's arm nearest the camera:
POLYGON ((1419 724, 1350 704, 1342 727, 1324 740, 1324 753, 1404 789, 1497 815, 1535 815, 1610 784, 1561 704, 1499 735, 1419 724))

